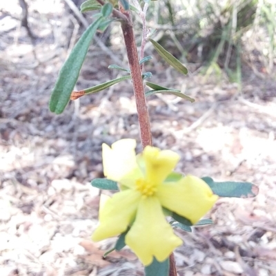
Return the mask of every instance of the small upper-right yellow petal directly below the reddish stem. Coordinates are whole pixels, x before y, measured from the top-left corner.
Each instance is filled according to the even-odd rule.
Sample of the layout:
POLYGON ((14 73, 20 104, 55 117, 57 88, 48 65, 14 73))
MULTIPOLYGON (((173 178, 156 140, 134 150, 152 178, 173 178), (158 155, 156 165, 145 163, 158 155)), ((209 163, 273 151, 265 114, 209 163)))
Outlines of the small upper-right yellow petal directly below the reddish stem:
POLYGON ((146 164, 146 179, 156 184, 161 184, 166 179, 180 159, 174 151, 160 151, 150 146, 144 149, 143 158, 146 164))

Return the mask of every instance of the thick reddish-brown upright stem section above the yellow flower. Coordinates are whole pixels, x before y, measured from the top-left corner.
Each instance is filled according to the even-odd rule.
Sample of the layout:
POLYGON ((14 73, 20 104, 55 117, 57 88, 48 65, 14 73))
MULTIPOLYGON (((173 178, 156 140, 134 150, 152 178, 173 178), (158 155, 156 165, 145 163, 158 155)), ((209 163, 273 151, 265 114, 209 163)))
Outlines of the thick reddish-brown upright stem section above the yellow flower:
POLYGON ((146 105, 144 85, 141 77, 141 68, 139 65, 135 35, 132 28, 131 15, 129 10, 124 10, 123 7, 120 8, 121 13, 123 13, 128 18, 128 21, 121 22, 121 29, 123 30, 124 41, 126 44, 126 53, 128 54, 128 63, 130 65, 130 73, 132 77, 133 90, 135 94, 137 114, 140 125, 141 142, 144 148, 147 145, 152 146, 150 118, 148 116, 148 107, 146 105))

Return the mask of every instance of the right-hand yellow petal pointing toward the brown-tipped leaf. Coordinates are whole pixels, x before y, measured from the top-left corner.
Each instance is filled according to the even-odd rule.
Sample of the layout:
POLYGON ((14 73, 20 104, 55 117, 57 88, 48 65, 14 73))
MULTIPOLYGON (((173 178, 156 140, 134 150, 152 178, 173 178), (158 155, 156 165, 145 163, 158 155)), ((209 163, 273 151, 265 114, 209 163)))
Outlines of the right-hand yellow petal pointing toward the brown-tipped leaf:
POLYGON ((218 196, 196 176, 186 176, 178 182, 161 184, 155 193, 161 205, 197 223, 215 204, 218 196))

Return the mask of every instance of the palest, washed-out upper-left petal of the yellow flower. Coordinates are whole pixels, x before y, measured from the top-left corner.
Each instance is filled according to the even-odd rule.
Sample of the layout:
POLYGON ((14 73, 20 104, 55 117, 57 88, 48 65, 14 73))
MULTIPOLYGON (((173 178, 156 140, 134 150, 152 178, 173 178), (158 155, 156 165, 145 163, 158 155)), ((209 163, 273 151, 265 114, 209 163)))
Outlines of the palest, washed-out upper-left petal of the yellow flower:
POLYGON ((133 139, 119 140, 111 148, 103 144, 103 173, 106 178, 119 182, 126 173, 137 168, 135 147, 133 139))

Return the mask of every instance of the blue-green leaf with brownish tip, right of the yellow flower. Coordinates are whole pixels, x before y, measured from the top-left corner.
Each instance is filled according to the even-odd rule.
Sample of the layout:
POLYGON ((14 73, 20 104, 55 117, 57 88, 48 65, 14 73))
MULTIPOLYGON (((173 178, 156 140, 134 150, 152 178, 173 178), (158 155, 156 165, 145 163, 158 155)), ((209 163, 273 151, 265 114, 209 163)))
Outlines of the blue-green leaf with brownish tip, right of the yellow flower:
POLYGON ((215 182, 212 178, 201 178, 213 193, 227 198, 252 198, 259 193, 259 188, 250 182, 215 182))

